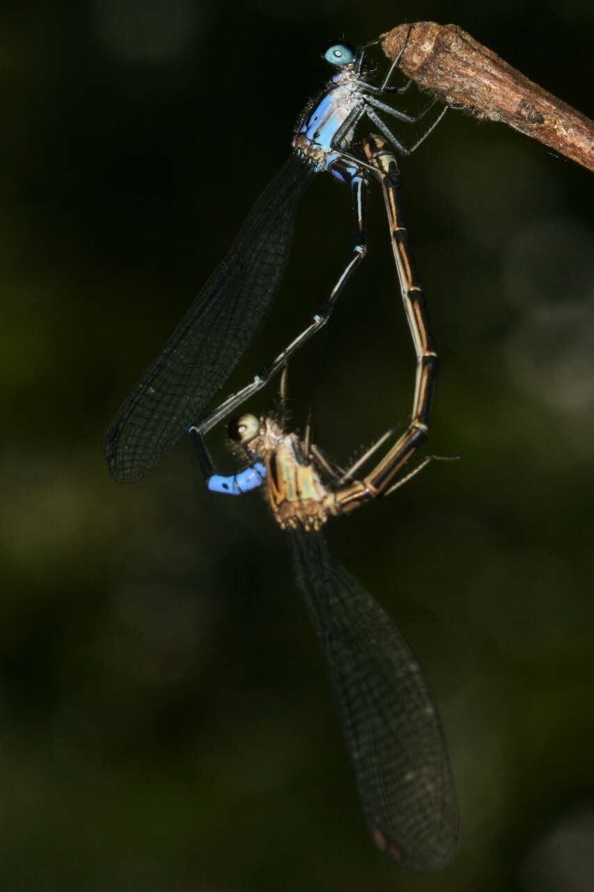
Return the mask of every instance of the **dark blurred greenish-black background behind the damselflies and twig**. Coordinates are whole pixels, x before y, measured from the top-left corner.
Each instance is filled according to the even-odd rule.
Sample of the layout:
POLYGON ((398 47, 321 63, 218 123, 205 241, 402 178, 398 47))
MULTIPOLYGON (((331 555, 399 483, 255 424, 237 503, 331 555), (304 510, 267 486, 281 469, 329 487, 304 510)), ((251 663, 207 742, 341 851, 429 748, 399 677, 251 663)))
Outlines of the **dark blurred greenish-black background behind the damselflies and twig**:
MULTIPOLYGON (((429 450, 460 460, 327 536, 440 704, 461 809, 448 870, 375 852, 260 495, 205 492, 188 442, 131 486, 103 458, 120 401, 284 161, 326 43, 455 22, 591 114, 592 5, 534 8, 4 4, 2 888, 594 888, 589 172, 458 112, 401 163, 442 361, 429 450)), ((372 197, 368 260, 290 370, 293 424, 311 408, 342 463, 406 425, 414 382, 372 197)), ((350 238, 348 190, 321 176, 226 392, 318 308, 350 238)), ((224 426, 210 445, 235 469, 224 426)))

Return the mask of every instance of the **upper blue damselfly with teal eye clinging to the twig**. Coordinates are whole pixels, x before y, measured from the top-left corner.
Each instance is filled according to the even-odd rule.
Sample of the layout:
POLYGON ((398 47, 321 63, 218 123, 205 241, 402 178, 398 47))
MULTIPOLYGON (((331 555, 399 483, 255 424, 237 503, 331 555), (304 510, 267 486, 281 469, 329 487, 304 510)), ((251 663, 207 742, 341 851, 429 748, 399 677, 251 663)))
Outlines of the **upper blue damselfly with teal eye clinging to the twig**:
POLYGON ((253 206, 225 260, 114 418, 106 451, 111 474, 118 480, 138 479, 167 454, 188 425, 206 432, 267 384, 294 351, 326 323, 344 285, 365 257, 365 197, 368 179, 377 171, 364 156, 359 157, 355 133, 359 121, 367 117, 394 151, 409 154, 445 111, 413 145, 403 145, 378 112, 413 124, 433 103, 415 117, 379 99, 385 93, 404 93, 411 82, 389 86, 398 59, 380 86, 367 82, 366 48, 358 54, 345 44, 328 48, 325 58, 337 72, 302 112, 293 136, 293 152, 253 206), (285 270, 294 211, 312 178, 323 170, 351 186, 356 232, 351 259, 309 326, 251 384, 209 414, 210 401, 263 324, 285 270))

